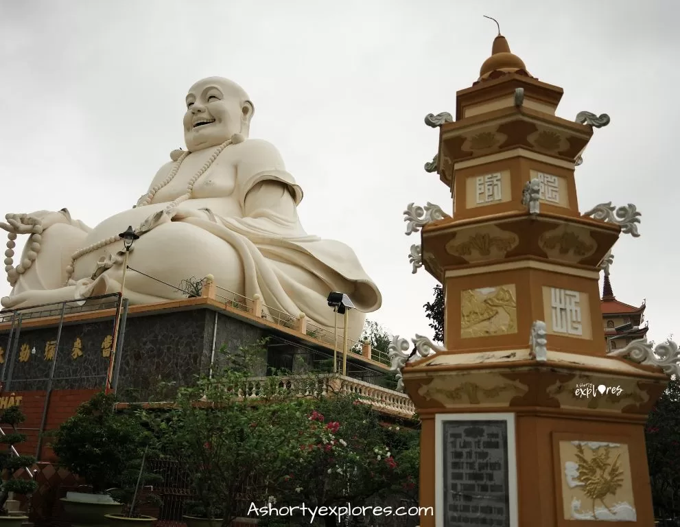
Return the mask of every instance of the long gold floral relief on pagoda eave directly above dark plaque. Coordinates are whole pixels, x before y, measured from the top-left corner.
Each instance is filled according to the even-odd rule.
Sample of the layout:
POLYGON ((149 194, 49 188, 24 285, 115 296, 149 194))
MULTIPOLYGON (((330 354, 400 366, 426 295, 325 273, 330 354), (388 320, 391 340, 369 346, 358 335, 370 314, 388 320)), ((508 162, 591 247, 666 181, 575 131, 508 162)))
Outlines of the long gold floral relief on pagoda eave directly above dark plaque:
POLYGON ((454 383, 448 377, 435 377, 430 384, 424 384, 418 393, 426 401, 434 399, 444 406, 461 404, 509 404, 511 399, 524 395, 528 388, 519 382, 513 384, 500 377, 489 376, 482 381, 480 374, 470 375, 469 380, 454 383), (502 400, 498 400, 502 398, 502 400))

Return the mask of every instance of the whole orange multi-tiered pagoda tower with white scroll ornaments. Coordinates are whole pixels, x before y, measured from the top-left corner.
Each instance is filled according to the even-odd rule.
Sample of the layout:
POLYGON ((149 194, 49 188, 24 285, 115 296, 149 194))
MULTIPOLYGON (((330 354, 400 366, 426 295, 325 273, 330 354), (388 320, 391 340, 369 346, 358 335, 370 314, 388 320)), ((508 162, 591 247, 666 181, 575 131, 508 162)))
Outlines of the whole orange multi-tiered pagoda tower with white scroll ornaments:
POLYGON ((410 204, 405 221, 413 272, 443 284, 445 345, 390 347, 422 423, 421 527, 653 525, 644 423, 678 349, 607 350, 598 279, 640 213, 579 211, 574 170, 609 117, 558 117, 562 95, 499 34, 455 121, 425 117, 452 213, 410 204))

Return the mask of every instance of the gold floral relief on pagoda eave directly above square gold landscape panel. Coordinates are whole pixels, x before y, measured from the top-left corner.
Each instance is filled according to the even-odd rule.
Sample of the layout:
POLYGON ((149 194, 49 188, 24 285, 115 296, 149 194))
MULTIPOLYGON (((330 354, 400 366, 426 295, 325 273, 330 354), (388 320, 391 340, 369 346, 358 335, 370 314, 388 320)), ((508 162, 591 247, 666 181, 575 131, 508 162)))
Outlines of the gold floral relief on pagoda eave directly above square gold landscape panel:
POLYGON ((519 237, 516 234, 502 231, 495 225, 486 225, 460 231, 446 244, 446 251, 449 255, 474 262, 504 258, 517 245, 519 237))

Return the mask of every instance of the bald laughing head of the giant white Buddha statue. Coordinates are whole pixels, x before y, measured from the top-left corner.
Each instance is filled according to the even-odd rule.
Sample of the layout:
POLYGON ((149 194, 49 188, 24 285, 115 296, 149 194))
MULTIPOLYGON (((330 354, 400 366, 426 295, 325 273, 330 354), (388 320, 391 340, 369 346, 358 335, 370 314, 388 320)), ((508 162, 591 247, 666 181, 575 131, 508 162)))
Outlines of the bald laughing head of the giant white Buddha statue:
POLYGON ((184 137, 189 152, 220 145, 237 133, 248 138, 255 108, 235 82, 222 77, 199 80, 189 88, 186 102, 184 137))

